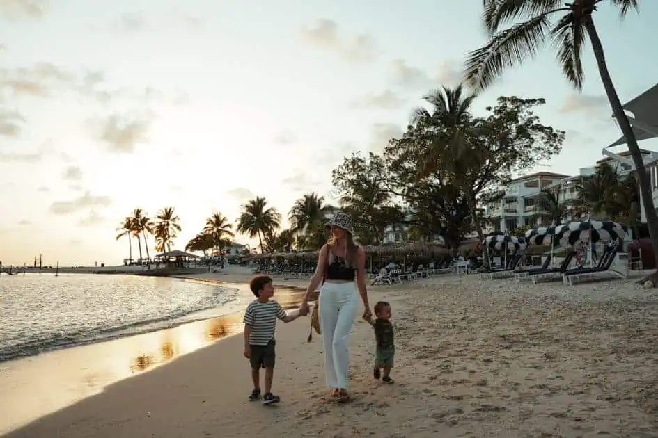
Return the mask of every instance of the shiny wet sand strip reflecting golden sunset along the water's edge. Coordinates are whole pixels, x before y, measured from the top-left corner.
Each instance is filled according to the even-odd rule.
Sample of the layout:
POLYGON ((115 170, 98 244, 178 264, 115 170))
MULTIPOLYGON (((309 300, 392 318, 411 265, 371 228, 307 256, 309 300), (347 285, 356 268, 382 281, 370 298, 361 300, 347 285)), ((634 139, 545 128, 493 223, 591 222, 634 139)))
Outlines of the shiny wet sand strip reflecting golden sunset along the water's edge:
MULTIPOLYGON (((244 284, 220 282, 212 278, 180 277, 180 279, 237 289, 244 293, 244 288, 235 287, 244 286, 244 284)), ((285 285, 285 292, 280 293, 278 298, 284 309, 295 309, 299 307, 301 293, 298 288, 285 285)), ((203 311, 198 313, 203 314, 203 311)), ((28 424, 29 421, 38 420, 41 416, 52 414, 58 409, 102 393, 112 384, 136 378, 143 373, 150 373, 181 357, 213 346, 218 341, 241 334, 243 314, 244 309, 241 308, 221 316, 205 316, 194 321, 181 321, 171 327, 53 348, 36 355, 15 357, 0 362, 0 370, 13 380, 13 382, 6 380, 0 383, 0 394, 2 394, 0 400, 3 400, 0 405, 7 405, 8 407, 2 410, 7 413, 9 418, 14 419, 10 420, 8 424, 0 423, 0 435, 28 424), (102 359, 99 360, 99 357, 102 359), (108 369, 103 362, 120 362, 123 363, 123 366, 120 366, 118 370, 113 367, 108 369), (53 364, 56 364, 56 368, 61 368, 62 364, 72 364, 74 368, 79 364, 82 366, 78 371, 63 373, 61 376, 63 381, 55 382, 57 374, 54 373, 50 374, 45 382, 40 382, 38 385, 30 382, 38 370, 52 368, 53 364), (10 407, 13 399, 25 399, 25 394, 58 393, 57 386, 61 384, 77 387, 77 391, 73 391, 73 393, 64 391, 63 396, 52 398, 41 407, 32 408, 31 413, 21 413, 15 405, 13 408, 10 407), (6 388, 6 385, 9 385, 10 388, 6 388), (88 391, 89 388, 94 390, 88 391)), ((34 405, 35 402, 43 403, 40 400, 26 400, 28 405, 34 405)))

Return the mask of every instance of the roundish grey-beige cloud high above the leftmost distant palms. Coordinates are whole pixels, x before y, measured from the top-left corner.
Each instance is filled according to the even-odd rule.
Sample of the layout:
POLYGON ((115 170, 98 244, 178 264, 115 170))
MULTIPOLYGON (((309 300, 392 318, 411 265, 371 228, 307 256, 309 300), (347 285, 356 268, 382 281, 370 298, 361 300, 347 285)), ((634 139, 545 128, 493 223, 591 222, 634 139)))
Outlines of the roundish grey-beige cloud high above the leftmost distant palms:
POLYGON ((99 139, 111 152, 130 154, 136 145, 148 142, 152 117, 127 117, 113 114, 101 122, 99 139))

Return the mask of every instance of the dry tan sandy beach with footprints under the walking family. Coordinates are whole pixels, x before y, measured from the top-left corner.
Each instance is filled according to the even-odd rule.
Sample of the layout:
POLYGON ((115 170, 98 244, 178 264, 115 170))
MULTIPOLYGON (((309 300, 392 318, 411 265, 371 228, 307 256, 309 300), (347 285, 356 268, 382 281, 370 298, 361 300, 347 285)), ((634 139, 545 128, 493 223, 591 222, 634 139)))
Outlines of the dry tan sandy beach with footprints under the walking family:
POLYGON ((373 333, 357 319, 347 405, 325 400, 320 338, 306 343, 301 318, 277 327, 276 407, 246 401, 233 336, 6 437, 658 436, 656 289, 445 275, 377 286, 370 301, 380 299, 393 306, 395 384, 373 380, 373 333))

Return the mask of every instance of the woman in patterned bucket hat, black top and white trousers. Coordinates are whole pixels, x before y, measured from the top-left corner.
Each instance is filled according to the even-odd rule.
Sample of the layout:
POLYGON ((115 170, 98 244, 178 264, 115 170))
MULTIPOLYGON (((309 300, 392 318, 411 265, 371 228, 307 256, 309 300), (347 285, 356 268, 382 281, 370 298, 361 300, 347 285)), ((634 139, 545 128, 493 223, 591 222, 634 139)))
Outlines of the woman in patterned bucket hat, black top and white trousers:
POLYGON ((331 397, 346 402, 350 400, 347 394, 347 370, 350 366, 347 341, 357 315, 357 289, 366 309, 363 317, 372 316, 366 292, 366 252, 354 243, 354 229, 349 215, 336 213, 327 227, 331 229, 331 238, 320 250, 318 266, 301 307, 308 310, 308 298, 324 279, 318 311, 324 343, 324 374, 327 386, 331 388, 331 397))

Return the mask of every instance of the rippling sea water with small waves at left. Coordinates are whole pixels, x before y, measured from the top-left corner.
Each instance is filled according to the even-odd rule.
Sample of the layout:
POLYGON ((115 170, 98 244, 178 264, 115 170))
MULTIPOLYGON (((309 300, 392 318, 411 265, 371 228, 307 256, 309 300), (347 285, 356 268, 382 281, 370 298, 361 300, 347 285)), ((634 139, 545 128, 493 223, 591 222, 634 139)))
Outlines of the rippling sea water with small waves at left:
POLYGON ((0 275, 0 362, 175 327, 243 304, 238 289, 184 279, 0 275))

